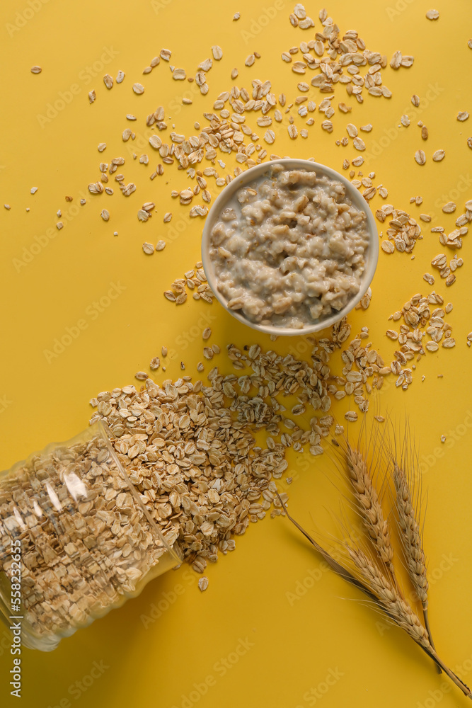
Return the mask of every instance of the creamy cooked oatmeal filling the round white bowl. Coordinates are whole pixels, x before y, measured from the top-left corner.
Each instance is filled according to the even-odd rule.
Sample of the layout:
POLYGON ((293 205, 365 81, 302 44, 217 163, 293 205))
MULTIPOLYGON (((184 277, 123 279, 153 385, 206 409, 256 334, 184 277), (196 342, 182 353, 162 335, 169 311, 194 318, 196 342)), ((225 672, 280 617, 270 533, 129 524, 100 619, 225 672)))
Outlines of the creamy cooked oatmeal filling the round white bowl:
POLYGON ((229 309, 302 329, 357 295, 368 244, 367 215, 343 183, 275 164, 221 212, 209 257, 229 309))

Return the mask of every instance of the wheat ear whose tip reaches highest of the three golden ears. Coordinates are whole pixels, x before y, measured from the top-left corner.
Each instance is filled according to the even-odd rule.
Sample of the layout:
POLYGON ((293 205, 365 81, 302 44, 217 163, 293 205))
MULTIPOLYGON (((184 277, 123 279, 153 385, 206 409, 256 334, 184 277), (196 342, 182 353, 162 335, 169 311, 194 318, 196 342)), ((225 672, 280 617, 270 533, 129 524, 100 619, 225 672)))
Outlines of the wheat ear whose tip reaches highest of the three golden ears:
POLYGON ((367 528, 367 532, 372 539, 379 558, 390 571, 392 578, 395 578, 390 531, 384 519, 384 512, 382 511, 379 497, 372 485, 367 462, 364 457, 362 457, 359 450, 351 447, 349 443, 347 443, 345 452, 347 470, 352 489, 354 490, 357 509, 362 516, 364 525, 367 528))

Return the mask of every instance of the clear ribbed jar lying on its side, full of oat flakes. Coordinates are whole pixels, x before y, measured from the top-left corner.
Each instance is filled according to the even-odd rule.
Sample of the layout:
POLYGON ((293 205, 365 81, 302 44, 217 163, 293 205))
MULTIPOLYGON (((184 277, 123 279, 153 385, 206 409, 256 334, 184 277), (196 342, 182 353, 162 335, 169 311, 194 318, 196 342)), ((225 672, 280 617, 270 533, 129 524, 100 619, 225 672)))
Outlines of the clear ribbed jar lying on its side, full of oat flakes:
POLYGON ((0 473, 0 618, 51 651, 181 562, 98 421, 0 473))

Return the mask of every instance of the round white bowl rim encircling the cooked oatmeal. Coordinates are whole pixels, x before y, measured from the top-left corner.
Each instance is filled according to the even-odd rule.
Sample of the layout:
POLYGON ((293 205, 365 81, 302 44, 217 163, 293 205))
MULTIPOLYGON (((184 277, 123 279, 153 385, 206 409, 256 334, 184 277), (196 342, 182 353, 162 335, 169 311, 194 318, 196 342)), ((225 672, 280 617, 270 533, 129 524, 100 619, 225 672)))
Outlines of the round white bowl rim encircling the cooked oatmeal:
MULTIPOLYGON (((268 176, 268 174, 267 174, 267 176, 268 176)), ((236 317, 236 319, 238 319, 240 322, 247 324, 249 327, 252 327, 253 329, 257 329, 260 332, 265 332, 267 334, 275 334, 277 336, 296 336, 296 335, 300 336, 300 335, 309 334, 311 332, 318 332, 321 329, 325 329, 326 327, 330 327, 335 322, 338 322, 340 319, 342 319, 348 312, 350 312, 352 309, 355 308, 357 303, 362 299, 362 297, 364 297, 365 293, 367 292, 369 285, 372 282, 372 278, 374 278, 374 273, 375 273, 378 258, 379 258, 379 235, 377 233, 377 227, 376 227, 374 215, 372 214, 372 211, 369 209, 369 205, 367 204, 367 202, 364 199, 364 197, 362 196, 362 194, 359 192, 359 190, 357 190, 355 187, 353 187, 352 184, 350 183, 350 181, 347 180, 343 175, 340 175, 338 172, 335 172, 334 170, 330 169, 330 167, 326 167, 326 165, 321 165, 318 162, 312 162, 311 160, 299 160, 299 159, 286 158, 286 159, 281 159, 281 160, 274 160, 272 162, 265 162, 263 164, 256 165, 255 167, 251 167, 250 169, 246 170, 241 175, 234 178, 234 180, 232 182, 230 182, 229 185, 227 185, 224 188, 224 190, 221 192, 221 194, 218 195, 216 200, 214 200, 212 208, 209 210, 207 219, 205 221, 205 227, 203 227, 202 263, 203 263, 203 268, 205 270, 205 275, 207 276, 208 284, 212 288, 215 297, 217 297, 217 299, 219 300, 219 302, 221 302, 223 307, 232 316, 236 317), (359 210, 365 212, 365 214, 367 215, 367 229, 369 231, 369 247, 367 249, 366 265, 364 268, 364 273, 362 274, 362 280, 360 282, 359 292, 357 293, 357 295, 355 295, 355 297, 352 297, 352 299, 350 299, 350 301, 347 303, 347 305, 345 305, 345 307, 343 307, 343 309, 339 310, 338 312, 334 312, 329 317, 324 317, 324 318, 319 319, 314 324, 309 324, 306 327, 302 327, 301 329, 292 329, 291 327, 277 327, 277 326, 271 326, 271 325, 266 325, 266 324, 257 324, 256 322, 251 322, 250 320, 246 319, 246 317, 243 316, 237 310, 229 309, 226 299, 221 295, 220 292, 218 292, 217 279, 214 274, 212 261, 210 261, 210 258, 209 258, 210 234, 212 232, 214 224, 218 221, 219 216, 221 215, 221 212, 227 206, 228 202, 231 200, 231 198, 234 196, 234 193, 238 189, 241 189, 241 187, 246 187, 251 182, 258 180, 265 173, 268 173, 270 166, 272 164, 280 164, 280 165, 283 165, 285 169, 290 169, 290 170, 304 169, 307 171, 316 171, 316 173, 321 174, 321 175, 326 175, 328 178, 330 178, 332 180, 338 180, 339 182, 342 182, 343 185, 345 185, 346 193, 347 193, 347 195, 350 196, 352 203, 359 210)))

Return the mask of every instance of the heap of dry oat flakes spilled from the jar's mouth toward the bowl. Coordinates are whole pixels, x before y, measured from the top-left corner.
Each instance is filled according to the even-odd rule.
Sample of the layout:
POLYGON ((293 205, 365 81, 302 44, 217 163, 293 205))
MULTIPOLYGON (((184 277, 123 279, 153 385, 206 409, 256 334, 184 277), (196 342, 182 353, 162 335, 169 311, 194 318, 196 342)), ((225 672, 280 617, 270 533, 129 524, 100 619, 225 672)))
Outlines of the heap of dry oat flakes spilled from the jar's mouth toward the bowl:
POLYGON ((287 447, 307 446, 313 455, 323 451, 321 438, 333 418, 309 412, 304 430, 283 416, 286 409, 277 396, 297 396, 293 416, 328 411, 327 363, 335 346, 318 342, 311 365, 292 355, 262 353, 258 346, 247 353, 229 346, 235 369, 248 368, 247 373, 223 377, 214 367, 208 387, 192 384, 188 376, 161 386, 146 378, 139 391, 126 386, 92 399, 97 411, 91 422, 108 423, 117 455, 151 517, 166 537, 177 533, 184 558, 196 571, 216 561, 219 550, 234 549, 233 536, 264 518, 272 505, 272 515, 280 513, 273 480, 287 469, 287 447), (255 445, 258 429, 269 433, 265 449, 255 445))

